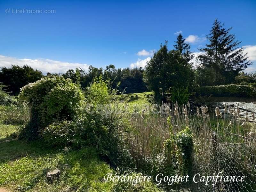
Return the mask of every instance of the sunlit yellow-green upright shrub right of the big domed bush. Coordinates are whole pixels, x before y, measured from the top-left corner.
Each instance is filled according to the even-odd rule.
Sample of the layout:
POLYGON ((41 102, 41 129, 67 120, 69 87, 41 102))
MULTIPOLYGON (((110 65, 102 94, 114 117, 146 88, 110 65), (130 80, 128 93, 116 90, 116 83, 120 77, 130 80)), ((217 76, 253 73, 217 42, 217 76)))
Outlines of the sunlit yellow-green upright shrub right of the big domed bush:
POLYGON ((87 87, 86 97, 94 105, 107 104, 111 99, 108 92, 108 80, 104 81, 101 75, 99 78, 95 77, 92 84, 87 87))

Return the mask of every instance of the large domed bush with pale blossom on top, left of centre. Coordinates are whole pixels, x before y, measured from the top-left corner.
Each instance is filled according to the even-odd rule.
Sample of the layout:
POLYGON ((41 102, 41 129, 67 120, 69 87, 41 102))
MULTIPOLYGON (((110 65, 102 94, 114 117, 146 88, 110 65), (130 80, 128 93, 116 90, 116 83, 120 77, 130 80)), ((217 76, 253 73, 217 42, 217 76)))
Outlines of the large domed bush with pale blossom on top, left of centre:
POLYGON ((62 76, 46 76, 21 89, 20 100, 30 108, 30 122, 21 137, 35 139, 40 131, 57 120, 72 120, 84 100, 81 89, 62 76))

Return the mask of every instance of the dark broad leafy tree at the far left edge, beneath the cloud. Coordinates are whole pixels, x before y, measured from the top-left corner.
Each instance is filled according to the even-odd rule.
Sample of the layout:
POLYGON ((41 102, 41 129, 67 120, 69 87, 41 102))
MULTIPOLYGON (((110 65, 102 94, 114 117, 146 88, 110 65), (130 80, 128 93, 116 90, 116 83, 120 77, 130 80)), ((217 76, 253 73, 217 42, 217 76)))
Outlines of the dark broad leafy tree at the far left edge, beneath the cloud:
POLYGON ((27 65, 23 67, 12 65, 10 68, 3 67, 0 70, 0 82, 7 86, 6 91, 12 95, 18 95, 21 87, 36 82, 42 77, 41 71, 27 65))

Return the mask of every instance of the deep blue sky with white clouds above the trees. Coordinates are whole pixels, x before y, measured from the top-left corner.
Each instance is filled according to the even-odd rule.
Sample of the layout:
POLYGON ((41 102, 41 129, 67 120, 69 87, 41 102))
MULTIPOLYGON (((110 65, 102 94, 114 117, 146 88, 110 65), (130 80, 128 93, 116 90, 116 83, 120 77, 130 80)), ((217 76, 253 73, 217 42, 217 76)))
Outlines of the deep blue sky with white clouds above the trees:
POLYGON ((181 33, 198 55, 217 18, 241 41, 256 71, 256 1, 0 0, 0 67, 63 73, 89 65, 144 67, 181 33))

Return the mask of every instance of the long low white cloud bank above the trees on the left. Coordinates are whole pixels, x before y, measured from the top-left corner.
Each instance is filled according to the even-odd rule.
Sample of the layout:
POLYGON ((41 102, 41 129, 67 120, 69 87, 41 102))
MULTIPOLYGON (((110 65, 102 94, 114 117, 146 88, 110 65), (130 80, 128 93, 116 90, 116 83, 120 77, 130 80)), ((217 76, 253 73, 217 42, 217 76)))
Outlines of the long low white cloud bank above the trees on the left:
POLYGON ((50 59, 16 59, 13 57, 7 57, 0 55, 0 68, 1 67, 10 67, 11 65, 28 65, 34 69, 38 69, 46 74, 50 73, 64 73, 68 69, 82 68, 88 70, 89 65, 81 63, 68 63, 50 59))

